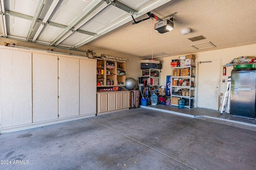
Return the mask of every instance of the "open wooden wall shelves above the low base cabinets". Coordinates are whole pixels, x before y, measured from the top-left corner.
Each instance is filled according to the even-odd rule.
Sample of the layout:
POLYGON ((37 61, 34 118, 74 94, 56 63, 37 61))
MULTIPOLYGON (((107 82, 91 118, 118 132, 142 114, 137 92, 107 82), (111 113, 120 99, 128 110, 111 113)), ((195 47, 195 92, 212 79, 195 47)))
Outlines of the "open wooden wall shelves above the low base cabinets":
POLYGON ((102 84, 97 87, 125 86, 125 80, 125 63, 97 59, 97 82, 102 84))

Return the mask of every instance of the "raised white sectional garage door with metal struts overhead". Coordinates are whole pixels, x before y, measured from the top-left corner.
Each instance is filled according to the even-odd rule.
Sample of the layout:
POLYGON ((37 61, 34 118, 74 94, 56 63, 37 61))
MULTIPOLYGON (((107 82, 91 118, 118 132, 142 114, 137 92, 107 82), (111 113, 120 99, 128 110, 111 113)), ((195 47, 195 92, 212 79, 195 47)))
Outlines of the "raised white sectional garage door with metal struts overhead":
POLYGON ((77 49, 170 0, 48 1, 0 0, 0 36, 77 49))

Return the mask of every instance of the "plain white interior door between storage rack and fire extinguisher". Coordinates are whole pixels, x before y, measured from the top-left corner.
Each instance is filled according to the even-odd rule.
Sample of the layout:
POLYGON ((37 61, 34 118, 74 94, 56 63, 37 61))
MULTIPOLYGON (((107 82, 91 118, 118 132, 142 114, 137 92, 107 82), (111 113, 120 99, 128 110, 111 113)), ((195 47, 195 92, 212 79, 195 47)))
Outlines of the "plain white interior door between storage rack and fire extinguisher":
POLYGON ((219 109, 220 59, 198 62, 197 107, 219 109))

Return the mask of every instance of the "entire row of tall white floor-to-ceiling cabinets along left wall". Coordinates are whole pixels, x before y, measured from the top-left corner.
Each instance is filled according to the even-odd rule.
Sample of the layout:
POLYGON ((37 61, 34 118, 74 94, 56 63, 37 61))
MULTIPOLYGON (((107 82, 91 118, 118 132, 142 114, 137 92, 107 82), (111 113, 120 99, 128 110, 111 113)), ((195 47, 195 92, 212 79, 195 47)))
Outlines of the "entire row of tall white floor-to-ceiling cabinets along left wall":
POLYGON ((96 115, 96 60, 5 46, 0 53, 0 133, 96 115))

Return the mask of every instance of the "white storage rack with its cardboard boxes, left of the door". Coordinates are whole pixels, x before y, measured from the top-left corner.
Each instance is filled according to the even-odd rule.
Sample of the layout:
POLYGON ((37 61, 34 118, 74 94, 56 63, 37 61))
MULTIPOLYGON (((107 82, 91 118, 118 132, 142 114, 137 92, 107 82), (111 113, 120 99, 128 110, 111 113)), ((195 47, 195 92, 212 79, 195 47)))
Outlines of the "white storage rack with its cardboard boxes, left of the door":
MULTIPOLYGON (((188 100, 188 102, 185 101, 185 107, 187 108, 194 107, 194 75, 194 66, 172 67, 171 97, 188 100)), ((178 106, 178 103, 172 103, 172 106, 178 106)))

